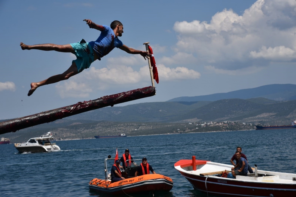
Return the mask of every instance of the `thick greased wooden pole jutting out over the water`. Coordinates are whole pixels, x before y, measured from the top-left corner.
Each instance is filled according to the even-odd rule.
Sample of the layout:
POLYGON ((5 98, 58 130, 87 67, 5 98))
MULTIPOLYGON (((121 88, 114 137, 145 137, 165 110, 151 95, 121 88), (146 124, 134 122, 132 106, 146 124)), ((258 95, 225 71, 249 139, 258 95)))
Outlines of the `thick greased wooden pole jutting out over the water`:
POLYGON ((104 96, 96 100, 78 102, 46 112, 41 112, 22 118, 16 118, 4 122, 0 122, 0 134, 15 132, 23 128, 28 128, 38 124, 49 123, 58 119, 62 119, 71 115, 76 115, 90 110, 104 108, 107 106, 128 102, 136 99, 151 97, 155 95, 155 87, 149 86, 134 89, 128 92, 121 92, 115 95, 104 96))

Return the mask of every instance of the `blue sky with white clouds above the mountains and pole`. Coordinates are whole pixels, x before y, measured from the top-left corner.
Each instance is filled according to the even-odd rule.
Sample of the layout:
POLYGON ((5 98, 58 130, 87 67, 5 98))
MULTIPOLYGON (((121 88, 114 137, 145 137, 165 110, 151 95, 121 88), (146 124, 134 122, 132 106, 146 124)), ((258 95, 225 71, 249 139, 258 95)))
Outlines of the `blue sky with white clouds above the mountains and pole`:
POLYGON ((151 85, 148 62, 115 48, 89 69, 27 96, 31 82, 61 74, 75 56, 22 51, 20 42, 96 40, 99 25, 123 23, 120 40, 145 50, 159 73, 157 95, 138 102, 208 95, 267 84, 296 84, 296 1, 0 1, 0 119, 151 85))

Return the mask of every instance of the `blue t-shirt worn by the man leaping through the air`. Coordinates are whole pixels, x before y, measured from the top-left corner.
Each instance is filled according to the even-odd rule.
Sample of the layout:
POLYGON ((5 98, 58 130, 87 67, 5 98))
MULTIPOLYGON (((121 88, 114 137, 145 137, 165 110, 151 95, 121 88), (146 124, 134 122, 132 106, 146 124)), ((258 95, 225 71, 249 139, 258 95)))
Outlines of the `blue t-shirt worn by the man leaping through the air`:
POLYGON ((98 54, 99 58, 107 55, 115 47, 121 47, 123 43, 115 38, 114 31, 107 25, 102 25, 105 30, 101 32, 100 36, 96 41, 91 41, 89 44, 91 48, 98 54))

